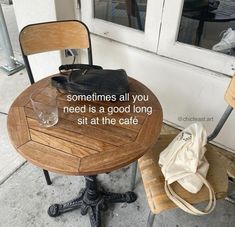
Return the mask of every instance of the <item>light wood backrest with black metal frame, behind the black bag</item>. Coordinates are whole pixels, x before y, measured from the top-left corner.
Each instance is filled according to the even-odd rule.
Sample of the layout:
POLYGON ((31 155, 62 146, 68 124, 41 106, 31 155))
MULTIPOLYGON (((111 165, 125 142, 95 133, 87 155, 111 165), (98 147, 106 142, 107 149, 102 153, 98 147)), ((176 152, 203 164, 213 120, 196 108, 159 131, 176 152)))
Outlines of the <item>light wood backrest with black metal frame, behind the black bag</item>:
POLYGON ((90 32, 81 21, 31 24, 21 30, 19 41, 31 83, 34 83, 34 78, 28 56, 32 54, 65 49, 87 49, 88 62, 93 64, 90 32))

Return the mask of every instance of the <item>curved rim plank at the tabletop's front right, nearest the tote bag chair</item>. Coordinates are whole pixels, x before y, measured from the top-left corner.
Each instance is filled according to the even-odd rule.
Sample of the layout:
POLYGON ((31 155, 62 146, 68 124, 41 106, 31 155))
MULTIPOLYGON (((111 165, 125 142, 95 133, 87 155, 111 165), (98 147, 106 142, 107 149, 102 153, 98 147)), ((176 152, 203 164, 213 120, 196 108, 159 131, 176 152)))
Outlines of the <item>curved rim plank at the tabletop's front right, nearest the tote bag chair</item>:
POLYGON ((111 172, 134 162, 144 153, 145 148, 141 144, 125 144, 110 152, 84 157, 79 172, 84 175, 111 172))

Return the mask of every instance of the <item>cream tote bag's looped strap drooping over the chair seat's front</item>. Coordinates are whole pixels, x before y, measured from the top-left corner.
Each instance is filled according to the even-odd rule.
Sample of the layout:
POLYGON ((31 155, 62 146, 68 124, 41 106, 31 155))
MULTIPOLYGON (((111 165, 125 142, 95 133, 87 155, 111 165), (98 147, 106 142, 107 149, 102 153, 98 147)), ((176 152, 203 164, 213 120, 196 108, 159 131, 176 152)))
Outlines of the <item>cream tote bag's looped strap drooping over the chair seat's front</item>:
POLYGON ((165 191, 169 199, 174 202, 179 208, 181 208, 187 213, 199 216, 209 214, 214 210, 216 205, 216 198, 215 192, 209 182, 201 174, 196 173, 196 175, 202 180, 202 182, 206 185, 209 191, 209 202, 203 211, 197 209, 196 207, 185 201, 183 198, 181 198, 179 195, 177 195, 167 181, 165 181, 165 191))

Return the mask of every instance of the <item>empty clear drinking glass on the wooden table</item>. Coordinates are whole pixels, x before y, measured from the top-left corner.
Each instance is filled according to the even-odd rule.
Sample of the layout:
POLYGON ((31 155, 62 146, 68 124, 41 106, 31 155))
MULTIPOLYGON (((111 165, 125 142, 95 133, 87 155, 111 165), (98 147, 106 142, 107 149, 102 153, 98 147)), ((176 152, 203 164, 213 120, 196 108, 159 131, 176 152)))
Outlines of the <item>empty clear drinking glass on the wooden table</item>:
POLYGON ((43 127, 51 127, 58 122, 57 91, 53 88, 35 90, 30 100, 39 123, 43 127))

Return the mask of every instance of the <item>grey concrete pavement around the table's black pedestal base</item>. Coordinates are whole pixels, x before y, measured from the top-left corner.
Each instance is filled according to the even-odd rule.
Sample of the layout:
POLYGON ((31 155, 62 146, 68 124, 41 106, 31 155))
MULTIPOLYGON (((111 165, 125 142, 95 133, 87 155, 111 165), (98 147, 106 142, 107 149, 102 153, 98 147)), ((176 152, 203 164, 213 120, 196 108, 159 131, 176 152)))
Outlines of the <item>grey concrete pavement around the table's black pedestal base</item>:
MULTIPOLYGON (((67 201, 77 196, 84 185, 83 177, 51 174, 53 185, 47 186, 42 170, 25 164, 4 184, 0 185, 1 227, 89 227, 88 216, 79 210, 56 218, 47 215, 53 203, 67 201)), ((129 189, 130 169, 99 175, 99 181, 110 191, 125 192, 129 189)), ((109 227, 144 227, 149 212, 146 195, 138 174, 136 187, 138 200, 132 204, 116 204, 104 212, 102 220, 109 227)), ((157 215, 154 226, 163 227, 233 227, 235 206, 224 200, 218 201, 212 214, 195 217, 180 209, 173 209, 157 215)))

